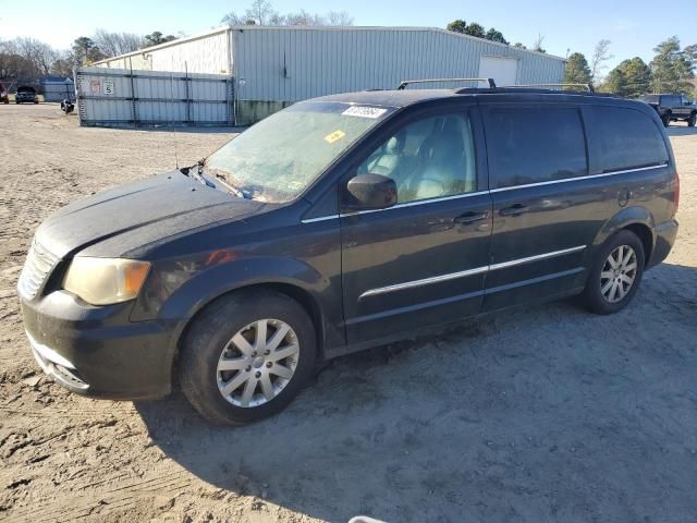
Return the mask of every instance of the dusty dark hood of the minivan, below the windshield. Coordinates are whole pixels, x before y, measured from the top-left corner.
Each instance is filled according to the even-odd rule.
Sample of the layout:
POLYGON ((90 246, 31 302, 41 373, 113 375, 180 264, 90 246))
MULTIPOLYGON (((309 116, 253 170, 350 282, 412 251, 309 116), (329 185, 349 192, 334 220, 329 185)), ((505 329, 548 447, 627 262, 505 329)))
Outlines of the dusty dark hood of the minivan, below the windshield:
POLYGON ((119 257, 192 229, 241 220, 270 206, 235 197, 173 171, 70 204, 36 231, 58 257, 119 257))

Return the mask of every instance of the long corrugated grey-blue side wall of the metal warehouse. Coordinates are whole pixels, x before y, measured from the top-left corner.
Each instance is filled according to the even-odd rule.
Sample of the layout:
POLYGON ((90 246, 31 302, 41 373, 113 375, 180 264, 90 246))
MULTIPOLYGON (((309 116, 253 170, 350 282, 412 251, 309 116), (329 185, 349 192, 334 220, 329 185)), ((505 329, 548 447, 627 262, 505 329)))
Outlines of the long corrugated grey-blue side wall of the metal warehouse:
POLYGON ((481 56, 517 59, 519 84, 561 82, 564 72, 562 59, 433 28, 256 27, 232 29, 231 38, 241 100, 297 101, 394 88, 405 78, 478 76, 481 56))

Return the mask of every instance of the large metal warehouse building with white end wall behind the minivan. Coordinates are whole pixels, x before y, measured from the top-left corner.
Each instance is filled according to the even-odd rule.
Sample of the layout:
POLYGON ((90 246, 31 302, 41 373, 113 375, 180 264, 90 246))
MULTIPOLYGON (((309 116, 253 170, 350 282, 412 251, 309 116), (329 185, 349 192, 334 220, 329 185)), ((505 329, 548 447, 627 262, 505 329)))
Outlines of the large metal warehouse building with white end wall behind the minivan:
POLYGON ((96 65, 228 75, 234 85, 233 119, 245 125, 298 100, 394 88, 406 78, 560 83, 565 60, 440 28, 240 26, 181 38, 96 65))

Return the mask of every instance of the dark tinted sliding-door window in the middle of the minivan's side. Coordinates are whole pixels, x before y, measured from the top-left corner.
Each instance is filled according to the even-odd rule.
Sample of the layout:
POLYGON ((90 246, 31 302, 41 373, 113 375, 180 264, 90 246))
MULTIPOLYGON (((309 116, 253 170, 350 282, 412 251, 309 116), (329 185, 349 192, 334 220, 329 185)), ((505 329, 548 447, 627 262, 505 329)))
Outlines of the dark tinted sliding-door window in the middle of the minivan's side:
POLYGON ((497 188, 588 173, 577 109, 492 109, 487 119, 487 147, 497 188))

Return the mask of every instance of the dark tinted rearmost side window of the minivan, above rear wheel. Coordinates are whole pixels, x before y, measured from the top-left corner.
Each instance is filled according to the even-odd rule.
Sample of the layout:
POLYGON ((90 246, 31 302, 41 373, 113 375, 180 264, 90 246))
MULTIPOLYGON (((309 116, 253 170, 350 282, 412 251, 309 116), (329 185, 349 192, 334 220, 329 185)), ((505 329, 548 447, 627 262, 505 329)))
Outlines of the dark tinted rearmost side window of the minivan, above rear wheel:
POLYGON ((668 162, 658 125, 645 113, 623 107, 592 106, 589 129, 600 172, 622 171, 668 162))

